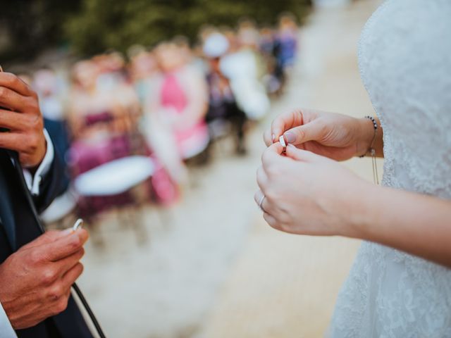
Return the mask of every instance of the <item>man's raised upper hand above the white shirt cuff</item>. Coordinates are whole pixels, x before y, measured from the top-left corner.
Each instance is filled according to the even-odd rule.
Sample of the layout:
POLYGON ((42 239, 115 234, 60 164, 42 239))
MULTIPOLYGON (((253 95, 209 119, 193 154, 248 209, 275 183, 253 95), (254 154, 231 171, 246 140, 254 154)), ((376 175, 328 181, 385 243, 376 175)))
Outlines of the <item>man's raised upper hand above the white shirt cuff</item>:
POLYGON ((47 151, 37 94, 11 73, 0 73, 0 148, 18 151, 24 168, 36 168, 47 151))

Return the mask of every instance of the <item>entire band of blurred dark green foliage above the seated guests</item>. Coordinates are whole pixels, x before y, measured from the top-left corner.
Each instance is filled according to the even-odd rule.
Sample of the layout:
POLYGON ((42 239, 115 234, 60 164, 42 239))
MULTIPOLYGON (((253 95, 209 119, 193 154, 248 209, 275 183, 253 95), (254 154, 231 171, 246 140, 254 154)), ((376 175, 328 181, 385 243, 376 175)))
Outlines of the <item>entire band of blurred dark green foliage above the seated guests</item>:
POLYGON ((311 0, 14 0, 3 5, 0 24, 6 23, 14 42, 10 56, 32 55, 65 41, 89 56, 176 35, 194 42, 203 25, 235 27, 243 17, 270 25, 290 11, 302 20, 310 6, 311 0))

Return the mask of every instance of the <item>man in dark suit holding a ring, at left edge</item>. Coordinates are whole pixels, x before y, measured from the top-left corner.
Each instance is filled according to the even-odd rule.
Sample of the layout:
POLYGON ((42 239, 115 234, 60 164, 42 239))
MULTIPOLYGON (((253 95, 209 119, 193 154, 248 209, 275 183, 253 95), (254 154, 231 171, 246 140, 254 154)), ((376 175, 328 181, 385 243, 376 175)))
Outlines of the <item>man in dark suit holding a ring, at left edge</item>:
POLYGON ((70 287, 86 230, 42 234, 37 213, 61 193, 63 170, 37 95, 0 73, 0 337, 92 337, 70 287))

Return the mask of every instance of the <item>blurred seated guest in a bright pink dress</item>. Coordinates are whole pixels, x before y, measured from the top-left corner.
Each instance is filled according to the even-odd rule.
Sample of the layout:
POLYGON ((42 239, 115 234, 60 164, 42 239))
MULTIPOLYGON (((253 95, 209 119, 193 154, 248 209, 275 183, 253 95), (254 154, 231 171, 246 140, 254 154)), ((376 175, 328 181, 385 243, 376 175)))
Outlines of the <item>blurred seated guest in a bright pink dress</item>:
POLYGON ((145 129, 173 178, 183 182, 183 160, 199 154, 209 142, 206 83, 176 44, 160 44, 155 53, 161 74, 145 104, 145 129))

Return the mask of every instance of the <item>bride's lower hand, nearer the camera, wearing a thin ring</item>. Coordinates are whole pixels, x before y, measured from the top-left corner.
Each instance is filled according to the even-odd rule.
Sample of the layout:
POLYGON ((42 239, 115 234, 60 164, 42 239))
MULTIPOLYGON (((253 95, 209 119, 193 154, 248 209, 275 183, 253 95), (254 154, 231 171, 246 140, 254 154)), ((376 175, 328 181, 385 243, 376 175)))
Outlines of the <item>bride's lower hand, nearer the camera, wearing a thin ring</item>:
MULTIPOLYGON (((295 234, 358 237, 359 210, 371 184, 326 157, 279 143, 269 146, 257 170, 254 199, 266 222, 295 234)), ((370 189, 369 189, 370 188, 370 189)))

